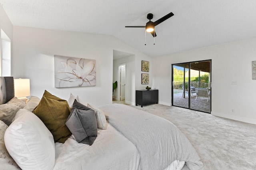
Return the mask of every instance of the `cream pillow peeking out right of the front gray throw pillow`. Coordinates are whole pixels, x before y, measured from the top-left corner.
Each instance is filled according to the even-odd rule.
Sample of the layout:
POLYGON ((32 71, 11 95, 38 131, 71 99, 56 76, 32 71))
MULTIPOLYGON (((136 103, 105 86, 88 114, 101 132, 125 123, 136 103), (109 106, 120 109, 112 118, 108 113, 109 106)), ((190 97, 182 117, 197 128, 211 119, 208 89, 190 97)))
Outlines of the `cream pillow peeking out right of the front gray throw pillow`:
POLYGON ((106 121, 104 112, 102 110, 100 110, 99 108, 92 106, 90 104, 87 104, 87 107, 90 107, 91 109, 93 109, 95 111, 98 128, 106 130, 107 129, 107 121, 106 121))

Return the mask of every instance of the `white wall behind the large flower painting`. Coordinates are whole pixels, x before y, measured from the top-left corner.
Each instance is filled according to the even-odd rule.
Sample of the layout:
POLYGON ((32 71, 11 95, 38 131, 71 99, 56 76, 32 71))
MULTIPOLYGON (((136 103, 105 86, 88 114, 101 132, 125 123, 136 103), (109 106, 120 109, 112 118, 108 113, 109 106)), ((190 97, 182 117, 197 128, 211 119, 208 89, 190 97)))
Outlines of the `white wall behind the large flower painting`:
MULTIPOLYGON (((68 99, 72 92, 94 105, 110 104, 113 49, 132 53, 140 62, 141 58, 149 58, 113 36, 14 26, 12 75, 30 78, 31 95, 34 96, 42 97, 46 89, 63 99, 68 99), (96 59, 97 85, 54 88, 54 55, 96 59)), ((141 65, 138 67, 141 69, 141 65)), ((134 83, 136 86, 137 82, 134 83)))

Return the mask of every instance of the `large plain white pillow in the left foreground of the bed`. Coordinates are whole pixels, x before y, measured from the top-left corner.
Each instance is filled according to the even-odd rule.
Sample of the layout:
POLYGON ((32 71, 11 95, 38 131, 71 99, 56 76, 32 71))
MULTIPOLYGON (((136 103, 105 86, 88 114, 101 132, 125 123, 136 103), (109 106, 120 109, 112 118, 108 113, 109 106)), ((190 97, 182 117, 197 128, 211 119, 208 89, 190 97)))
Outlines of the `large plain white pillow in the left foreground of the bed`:
POLYGON ((51 132, 32 112, 20 109, 6 129, 4 142, 9 154, 22 169, 50 170, 55 163, 51 132))

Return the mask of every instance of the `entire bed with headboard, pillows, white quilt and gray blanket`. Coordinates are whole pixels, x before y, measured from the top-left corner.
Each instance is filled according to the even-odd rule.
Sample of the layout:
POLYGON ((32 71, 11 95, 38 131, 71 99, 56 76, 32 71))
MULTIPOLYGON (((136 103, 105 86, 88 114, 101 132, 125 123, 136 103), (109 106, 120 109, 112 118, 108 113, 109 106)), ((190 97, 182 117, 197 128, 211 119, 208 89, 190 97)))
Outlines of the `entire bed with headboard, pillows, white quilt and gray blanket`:
POLYGON ((63 100, 47 91, 41 99, 31 96, 24 103, 14 97, 13 77, 0 81, 0 169, 198 170, 203 166, 186 136, 166 119, 122 104, 86 106, 78 96, 70 94, 63 100), (12 103, 15 108, 8 117, 4 109, 12 103), (48 112, 54 114, 44 120, 48 112), (57 130, 51 127, 63 122, 57 130))

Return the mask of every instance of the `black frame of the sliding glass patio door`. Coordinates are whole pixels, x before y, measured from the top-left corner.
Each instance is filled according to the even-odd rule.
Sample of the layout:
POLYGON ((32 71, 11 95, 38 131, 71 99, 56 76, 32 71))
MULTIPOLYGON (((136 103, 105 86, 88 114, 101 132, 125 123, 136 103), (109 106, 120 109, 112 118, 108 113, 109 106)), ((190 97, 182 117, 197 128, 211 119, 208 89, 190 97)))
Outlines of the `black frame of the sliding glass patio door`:
MULTIPOLYGON (((173 90, 174 90, 174 78, 173 78, 173 67, 174 65, 179 65, 179 64, 189 64, 189 78, 188 78, 188 107, 182 107, 185 109, 190 109, 190 110, 195 110, 195 111, 200 111, 200 110, 196 110, 196 109, 191 109, 190 108, 190 64, 191 63, 196 63, 196 62, 204 62, 204 61, 210 61, 210 83, 209 83, 209 87, 210 87, 210 113, 212 112, 212 59, 206 59, 206 60, 200 60, 200 61, 190 61, 190 62, 184 62, 184 63, 175 63, 172 64, 172 106, 175 107, 181 107, 181 106, 176 106, 174 105, 174 94, 173 94, 173 90)), ((185 73, 184 73, 185 74, 185 73)), ((185 77, 184 77, 185 78, 185 77)), ((200 111, 200 112, 204 112, 204 113, 209 113, 206 111, 200 111)))

